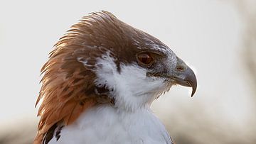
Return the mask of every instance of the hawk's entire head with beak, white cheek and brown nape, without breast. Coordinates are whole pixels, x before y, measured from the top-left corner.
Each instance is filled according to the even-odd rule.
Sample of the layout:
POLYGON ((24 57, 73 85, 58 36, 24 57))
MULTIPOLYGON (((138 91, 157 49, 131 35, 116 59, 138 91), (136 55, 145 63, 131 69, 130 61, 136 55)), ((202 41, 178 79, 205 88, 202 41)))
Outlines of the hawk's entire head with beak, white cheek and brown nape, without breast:
POLYGON ((192 96, 197 85, 191 68, 168 46, 107 11, 73 25, 42 72, 39 111, 53 109, 50 103, 84 106, 89 100, 133 111, 149 106, 174 84, 192 87, 192 96))

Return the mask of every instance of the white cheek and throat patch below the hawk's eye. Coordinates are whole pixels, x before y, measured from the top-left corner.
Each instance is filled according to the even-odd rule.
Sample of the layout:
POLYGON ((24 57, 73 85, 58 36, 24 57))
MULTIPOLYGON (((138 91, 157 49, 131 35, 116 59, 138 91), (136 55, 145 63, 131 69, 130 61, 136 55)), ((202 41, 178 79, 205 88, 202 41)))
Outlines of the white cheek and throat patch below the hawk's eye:
POLYGON ((115 106, 120 110, 135 111, 142 107, 149 107, 161 92, 166 89, 164 79, 147 77, 146 69, 137 63, 120 64, 120 72, 112 57, 107 55, 97 60, 96 85, 105 84, 113 89, 115 106))

